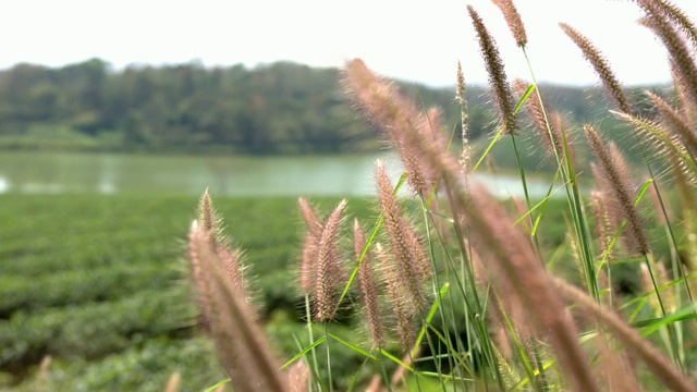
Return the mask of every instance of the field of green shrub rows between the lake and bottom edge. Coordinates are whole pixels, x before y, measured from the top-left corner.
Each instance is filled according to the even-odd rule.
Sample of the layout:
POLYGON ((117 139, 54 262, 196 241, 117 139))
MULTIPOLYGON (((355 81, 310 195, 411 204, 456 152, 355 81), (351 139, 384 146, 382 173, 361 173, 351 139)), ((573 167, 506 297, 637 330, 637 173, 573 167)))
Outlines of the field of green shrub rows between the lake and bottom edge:
MULTIPOLYGON (((337 203, 316 201, 320 210, 337 203)), ((52 358, 40 381, 47 390, 161 391, 174 371, 184 390, 222 380, 197 326, 184 261, 197 203, 189 196, 0 196, 0 389, 35 390, 46 356, 52 358)), ((277 348, 293 355, 292 335, 304 328, 295 198, 216 198, 216 206, 247 250, 259 317, 270 334, 285 336, 278 341, 288 345, 277 348)), ((375 215, 368 201, 351 200, 350 209, 375 215)))

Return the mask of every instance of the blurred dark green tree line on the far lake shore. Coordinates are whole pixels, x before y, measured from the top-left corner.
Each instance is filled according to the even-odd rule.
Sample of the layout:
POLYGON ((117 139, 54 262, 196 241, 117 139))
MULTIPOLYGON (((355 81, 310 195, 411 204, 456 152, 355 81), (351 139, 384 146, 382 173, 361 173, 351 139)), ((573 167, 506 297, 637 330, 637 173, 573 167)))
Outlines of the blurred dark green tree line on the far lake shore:
MULTIPOLYGON (((290 62, 254 69, 192 62, 120 71, 100 59, 58 69, 22 63, 0 72, 0 148, 41 148, 46 140, 61 139, 65 143, 52 145, 88 140, 77 146, 255 155, 380 148, 376 130, 347 101, 340 77, 337 69, 290 62)), ((440 107, 443 123, 460 134, 454 89, 400 86, 425 106, 440 107)), ((574 119, 594 114, 588 90, 550 89, 574 119)), ((484 96, 482 87, 467 90, 470 138, 494 125, 484 96)))

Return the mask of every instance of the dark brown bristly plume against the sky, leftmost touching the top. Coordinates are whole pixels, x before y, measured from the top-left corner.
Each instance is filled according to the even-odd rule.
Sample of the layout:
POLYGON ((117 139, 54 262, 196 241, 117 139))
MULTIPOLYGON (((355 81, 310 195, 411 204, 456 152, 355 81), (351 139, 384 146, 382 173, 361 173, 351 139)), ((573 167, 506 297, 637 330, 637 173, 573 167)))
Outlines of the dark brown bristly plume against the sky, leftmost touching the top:
POLYGON ((489 73, 489 85, 493 93, 500 122, 504 127, 505 134, 513 135, 517 130, 515 113, 513 112, 515 106, 513 103, 511 87, 505 76, 503 61, 501 61, 501 56, 499 54, 499 48, 477 11, 475 11, 472 5, 467 5, 467 11, 469 12, 472 24, 479 39, 479 50, 481 51, 487 72, 489 73))

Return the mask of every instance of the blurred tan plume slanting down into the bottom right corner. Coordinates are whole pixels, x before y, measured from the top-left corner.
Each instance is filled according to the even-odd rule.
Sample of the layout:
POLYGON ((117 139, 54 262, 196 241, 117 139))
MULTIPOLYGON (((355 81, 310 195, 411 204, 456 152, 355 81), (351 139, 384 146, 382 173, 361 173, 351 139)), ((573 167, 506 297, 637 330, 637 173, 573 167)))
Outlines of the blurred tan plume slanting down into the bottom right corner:
POLYGON ((644 339, 636 330, 629 327, 615 313, 599 305, 586 293, 566 283, 562 279, 551 278, 555 291, 577 305, 586 315, 602 323, 626 350, 640 358, 671 391, 695 392, 695 387, 676 369, 661 352, 644 339))

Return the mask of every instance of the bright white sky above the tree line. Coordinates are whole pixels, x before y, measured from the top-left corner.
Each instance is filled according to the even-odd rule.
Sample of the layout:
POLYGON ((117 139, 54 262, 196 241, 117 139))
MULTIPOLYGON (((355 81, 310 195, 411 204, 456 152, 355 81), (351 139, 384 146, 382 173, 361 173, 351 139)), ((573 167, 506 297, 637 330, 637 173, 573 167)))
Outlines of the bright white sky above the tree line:
MULTIPOLYGON (((697 21, 697 1, 673 0, 697 21)), ((207 66, 292 60, 341 66, 363 58, 379 73, 452 85, 460 59, 467 83, 487 75, 466 4, 493 34, 509 77, 528 78, 522 52, 490 0, 5 0, 0 68, 51 66, 99 57, 117 69, 199 60, 207 66)), ((590 37, 625 84, 669 79, 665 51, 632 1, 516 0, 538 81, 595 84, 566 22, 590 37)))

